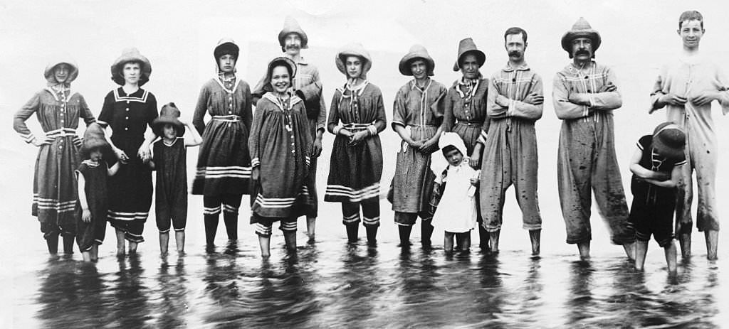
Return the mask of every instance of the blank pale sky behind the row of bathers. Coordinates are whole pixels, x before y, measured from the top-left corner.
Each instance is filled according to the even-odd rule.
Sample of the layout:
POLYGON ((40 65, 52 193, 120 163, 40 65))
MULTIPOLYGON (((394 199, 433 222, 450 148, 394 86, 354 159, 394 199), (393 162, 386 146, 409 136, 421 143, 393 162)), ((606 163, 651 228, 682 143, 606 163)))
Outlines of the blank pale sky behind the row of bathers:
MULTIPOLYGON (((12 116, 45 86, 43 70, 58 54, 69 54, 79 64, 79 76, 71 87, 84 95, 91 111, 98 115, 104 95, 117 87, 110 79, 109 66, 122 49, 136 47, 152 63, 152 76, 144 89, 157 96, 160 106, 174 101, 183 117, 190 119, 200 86, 214 74, 212 52, 217 41, 222 37, 235 39, 241 47, 238 76, 254 85, 268 60, 281 55, 278 31, 284 17, 292 15, 308 33, 310 48, 304 49, 303 55, 319 67, 327 106, 335 87, 344 82, 335 68, 335 52, 343 44, 358 41, 373 56, 368 77, 381 87, 391 117, 395 92, 408 82, 408 77, 397 71, 397 63, 412 44, 423 44, 429 50, 436 63, 434 79, 450 86, 459 77, 452 66, 460 39, 472 37, 486 53, 481 72, 491 76, 507 61, 504 30, 521 26, 529 33, 526 60, 545 82, 545 113, 537 122, 542 215, 545 228, 557 231, 556 237, 564 243, 556 190, 561 122, 554 114, 551 98, 555 72, 569 63, 560 46, 561 36, 580 16, 601 33, 603 42, 596 60, 612 66, 623 94, 623 108, 615 111, 615 135, 630 200, 628 158, 635 141, 665 119, 663 111, 647 114, 649 94, 661 63, 673 60, 681 50, 677 21, 687 9, 698 9, 704 15, 706 35, 701 51, 729 72, 726 1, 0 1, 0 71, 5 77, 0 80, 0 122, 5 127, 0 130, 1 209, 4 218, 31 220, 37 150, 12 130, 12 116)), ((729 120, 717 107, 714 104, 721 144, 719 167, 726 168, 729 120)), ((35 118, 28 123, 31 130, 39 131, 35 118)), ((385 159, 382 181, 388 186, 399 138, 391 129, 381 138, 385 159)), ((322 192, 331 145, 332 135, 327 133, 319 165, 322 192)), ((188 158, 192 179, 197 150, 191 149, 188 158)), ((722 184, 728 178, 727 170, 720 169, 717 195, 722 215, 729 213, 724 201, 729 188, 722 184)), ((518 216, 511 191, 506 215, 518 216)), ((391 214, 385 213, 383 218, 391 222, 391 214)), ((12 222, 4 225, 0 239, 16 234, 12 227, 12 222)), ((725 232, 720 244, 724 250, 729 243, 725 232)), ((40 239, 36 233, 32 236, 40 239)), ((696 244, 703 245, 703 237, 696 239, 696 244)))

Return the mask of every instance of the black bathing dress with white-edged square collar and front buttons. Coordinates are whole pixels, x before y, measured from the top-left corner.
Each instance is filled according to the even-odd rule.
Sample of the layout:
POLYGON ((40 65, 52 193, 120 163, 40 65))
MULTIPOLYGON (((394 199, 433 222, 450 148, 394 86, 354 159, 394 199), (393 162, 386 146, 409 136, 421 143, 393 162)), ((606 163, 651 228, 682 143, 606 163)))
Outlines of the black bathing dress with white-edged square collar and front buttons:
POLYGON ((109 92, 98 116, 99 124, 112 127, 112 142, 129 157, 116 175, 109 177, 109 223, 124 231, 130 242, 143 242, 144 223, 152 207, 152 170, 137 154, 147 126, 157 118, 157 99, 139 88, 127 95, 122 87, 109 92))

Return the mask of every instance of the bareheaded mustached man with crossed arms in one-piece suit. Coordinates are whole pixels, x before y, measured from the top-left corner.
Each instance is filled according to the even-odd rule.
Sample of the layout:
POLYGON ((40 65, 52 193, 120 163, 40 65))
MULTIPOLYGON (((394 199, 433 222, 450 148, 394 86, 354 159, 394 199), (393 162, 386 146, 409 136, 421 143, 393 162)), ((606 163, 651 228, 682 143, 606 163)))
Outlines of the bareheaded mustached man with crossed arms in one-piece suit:
POLYGON ((491 118, 481 165, 480 205, 489 247, 499 251, 506 190, 514 185, 523 228, 529 230, 531 254, 539 255, 542 216, 537 201, 537 135, 534 122, 542 117, 542 78, 524 60, 526 31, 509 28, 504 47, 509 62, 491 76, 487 113, 491 118))

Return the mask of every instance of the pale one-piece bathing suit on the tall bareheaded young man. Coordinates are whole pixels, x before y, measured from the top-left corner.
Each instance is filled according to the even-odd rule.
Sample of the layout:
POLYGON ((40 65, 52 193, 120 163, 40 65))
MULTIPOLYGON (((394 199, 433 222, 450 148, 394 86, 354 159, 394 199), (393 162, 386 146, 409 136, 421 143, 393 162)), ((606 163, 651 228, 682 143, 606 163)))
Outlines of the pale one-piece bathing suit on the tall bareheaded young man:
MULTIPOLYGON (((718 101, 722 106, 722 113, 729 113, 729 80, 719 66, 701 58, 695 61, 677 60, 660 71, 651 100, 655 108, 655 102, 663 94, 674 93, 691 99, 701 92, 719 92, 718 101)), ((683 106, 667 105, 666 117, 686 132, 687 164, 682 167, 682 181, 678 189, 676 231, 690 232, 693 225, 693 170, 696 170, 698 189, 696 227, 699 231, 719 230, 715 191, 719 150, 717 136, 714 134, 712 104, 697 106, 689 101, 683 106)))

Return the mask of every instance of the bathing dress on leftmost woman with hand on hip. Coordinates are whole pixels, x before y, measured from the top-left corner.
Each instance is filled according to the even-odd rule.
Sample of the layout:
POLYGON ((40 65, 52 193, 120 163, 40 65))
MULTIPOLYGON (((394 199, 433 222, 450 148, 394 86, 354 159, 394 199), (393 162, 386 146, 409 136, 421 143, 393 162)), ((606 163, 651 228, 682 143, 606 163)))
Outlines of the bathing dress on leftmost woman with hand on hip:
POLYGON ((78 198, 74 170, 79 166, 79 118, 95 121, 86 100, 68 89, 47 87, 33 95, 15 114, 13 128, 31 143, 36 136, 26 120, 36 114, 49 143, 40 146, 33 178, 31 214, 41 223, 44 237, 76 231, 74 207, 78 198))

